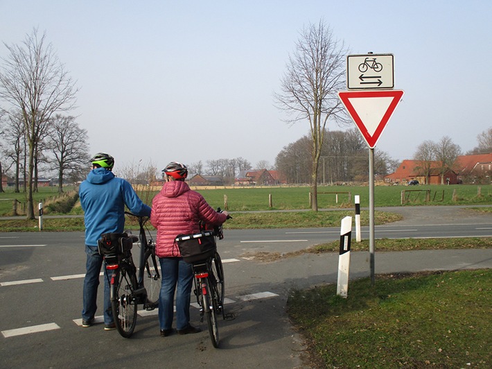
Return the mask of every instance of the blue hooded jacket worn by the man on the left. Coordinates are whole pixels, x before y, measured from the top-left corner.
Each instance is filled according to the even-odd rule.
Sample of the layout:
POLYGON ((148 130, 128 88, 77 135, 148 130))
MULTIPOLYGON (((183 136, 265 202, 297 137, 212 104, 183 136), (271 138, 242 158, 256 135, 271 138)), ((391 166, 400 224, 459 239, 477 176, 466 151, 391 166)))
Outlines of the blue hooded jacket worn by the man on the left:
POLYGON ((84 210, 87 246, 97 246, 103 233, 123 232, 125 205, 133 214, 150 216, 150 207, 140 200, 132 185, 105 168, 91 170, 78 194, 84 210))

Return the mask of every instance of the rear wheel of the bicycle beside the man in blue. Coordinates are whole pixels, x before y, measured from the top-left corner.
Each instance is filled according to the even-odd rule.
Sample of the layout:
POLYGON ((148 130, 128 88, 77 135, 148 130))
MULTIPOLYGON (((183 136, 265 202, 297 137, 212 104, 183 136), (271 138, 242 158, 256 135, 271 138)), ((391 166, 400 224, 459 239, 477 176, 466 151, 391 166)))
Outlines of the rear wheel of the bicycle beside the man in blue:
POLYGON ((111 307, 114 323, 121 336, 132 335, 137 324, 137 302, 133 291, 137 288, 137 277, 130 266, 120 266, 116 270, 114 284, 111 286, 111 307))

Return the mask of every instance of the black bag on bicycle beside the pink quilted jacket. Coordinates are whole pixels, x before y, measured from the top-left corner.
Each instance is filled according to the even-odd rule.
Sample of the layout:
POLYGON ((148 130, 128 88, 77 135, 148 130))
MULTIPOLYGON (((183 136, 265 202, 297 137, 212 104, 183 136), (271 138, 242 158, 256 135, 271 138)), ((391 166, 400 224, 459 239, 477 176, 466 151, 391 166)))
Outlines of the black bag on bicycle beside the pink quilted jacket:
POLYGON ((187 263, 195 263, 216 255, 216 237, 212 232, 179 234, 175 240, 183 260, 187 263))

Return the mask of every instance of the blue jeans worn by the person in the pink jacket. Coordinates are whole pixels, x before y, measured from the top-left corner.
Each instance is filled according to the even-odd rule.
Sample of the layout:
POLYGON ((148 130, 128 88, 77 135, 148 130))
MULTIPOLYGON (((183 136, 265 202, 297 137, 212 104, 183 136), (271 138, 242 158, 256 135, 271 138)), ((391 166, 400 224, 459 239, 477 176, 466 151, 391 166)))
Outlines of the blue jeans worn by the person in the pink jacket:
POLYGON ((181 257, 160 257, 162 284, 159 293, 159 326, 173 327, 174 293, 176 290, 176 328, 185 329, 190 323, 190 293, 193 285, 191 264, 181 257))

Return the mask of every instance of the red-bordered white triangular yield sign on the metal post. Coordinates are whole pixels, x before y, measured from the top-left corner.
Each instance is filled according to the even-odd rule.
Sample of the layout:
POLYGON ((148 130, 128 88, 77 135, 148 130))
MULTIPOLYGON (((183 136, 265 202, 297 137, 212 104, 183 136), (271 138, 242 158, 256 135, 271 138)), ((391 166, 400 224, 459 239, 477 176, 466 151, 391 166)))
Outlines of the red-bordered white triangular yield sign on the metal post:
POLYGON ((401 100, 403 91, 344 91, 338 97, 370 148, 374 148, 401 100))

